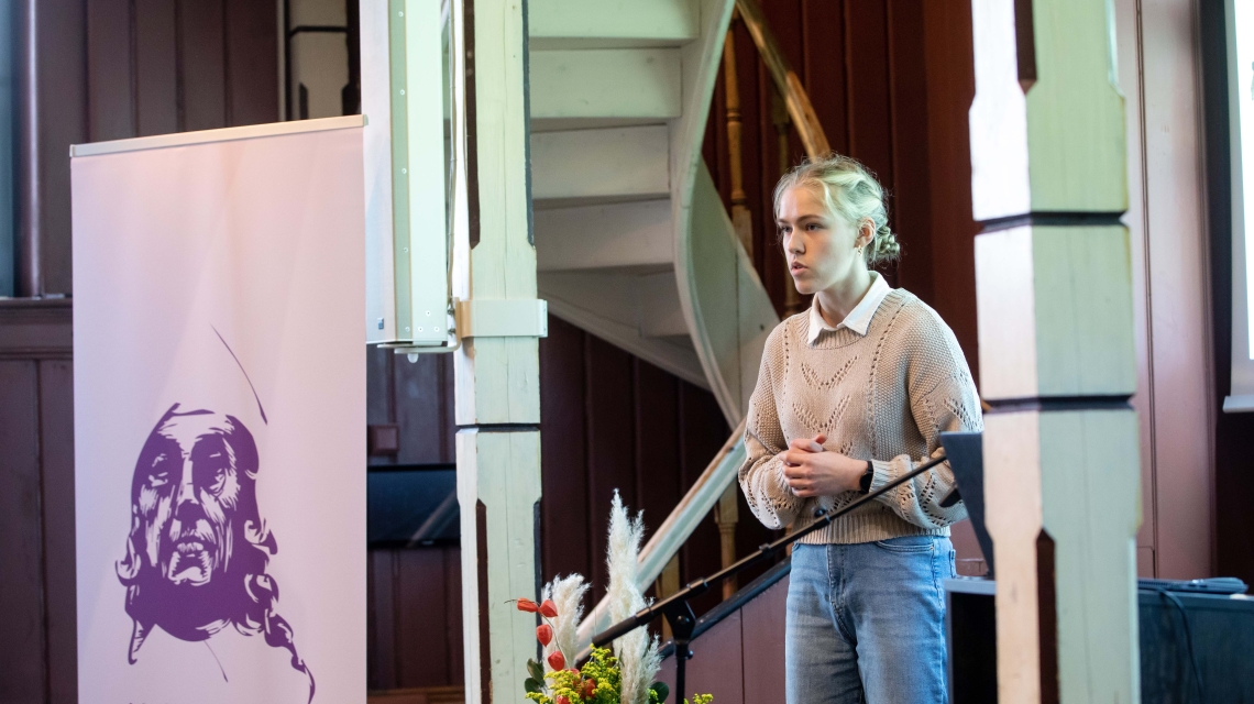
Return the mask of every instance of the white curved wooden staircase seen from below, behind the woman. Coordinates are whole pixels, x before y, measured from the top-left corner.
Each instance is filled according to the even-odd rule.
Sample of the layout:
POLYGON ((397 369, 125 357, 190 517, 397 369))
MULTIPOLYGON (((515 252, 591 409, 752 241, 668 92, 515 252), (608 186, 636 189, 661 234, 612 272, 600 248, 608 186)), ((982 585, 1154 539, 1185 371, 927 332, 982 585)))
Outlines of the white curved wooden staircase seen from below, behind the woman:
POLYGON ((701 159, 734 0, 532 0, 549 311, 710 389, 732 427, 779 321, 701 159))

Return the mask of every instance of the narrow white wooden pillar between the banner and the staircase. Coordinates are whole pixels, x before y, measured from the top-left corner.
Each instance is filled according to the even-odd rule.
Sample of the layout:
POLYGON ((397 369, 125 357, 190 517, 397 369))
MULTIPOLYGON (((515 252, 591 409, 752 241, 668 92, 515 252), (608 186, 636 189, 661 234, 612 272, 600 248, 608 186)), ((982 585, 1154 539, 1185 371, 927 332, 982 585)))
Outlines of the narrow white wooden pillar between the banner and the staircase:
POLYGON ((466 703, 518 701, 527 659, 537 653, 535 622, 508 601, 539 596, 537 335, 543 334, 543 312, 534 316, 527 5, 461 0, 453 6, 453 295, 463 301, 455 370, 466 703), (519 333, 513 311, 532 311, 529 335, 519 333))

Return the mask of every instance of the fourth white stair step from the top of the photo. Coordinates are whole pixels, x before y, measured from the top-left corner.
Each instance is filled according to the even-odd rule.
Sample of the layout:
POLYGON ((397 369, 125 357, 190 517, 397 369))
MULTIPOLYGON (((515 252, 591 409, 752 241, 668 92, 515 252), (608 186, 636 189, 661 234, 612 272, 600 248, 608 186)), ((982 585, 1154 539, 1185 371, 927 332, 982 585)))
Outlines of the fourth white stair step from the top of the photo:
POLYGON ((534 217, 539 271, 657 271, 675 259, 670 200, 538 210, 534 217))

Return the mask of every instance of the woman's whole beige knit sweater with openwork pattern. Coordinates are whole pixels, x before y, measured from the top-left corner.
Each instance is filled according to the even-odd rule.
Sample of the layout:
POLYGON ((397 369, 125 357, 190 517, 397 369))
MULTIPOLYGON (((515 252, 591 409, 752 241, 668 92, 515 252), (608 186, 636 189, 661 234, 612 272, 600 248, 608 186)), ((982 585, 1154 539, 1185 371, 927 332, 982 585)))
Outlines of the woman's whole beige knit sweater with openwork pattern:
MULTIPOLYGON (((825 448, 874 467, 872 491, 940 452, 940 433, 982 430, 976 385, 953 331, 934 310, 902 289, 880 302, 867 335, 824 330, 814 344, 805 312, 780 323, 766 340, 757 388, 749 402, 740 486, 769 528, 806 523, 818 508, 840 508, 861 494, 799 498, 779 454, 794 438, 828 437, 825 448)), ((962 503, 942 508, 953 472, 939 464, 801 542, 858 543, 898 536, 947 536, 967 517, 962 503)))

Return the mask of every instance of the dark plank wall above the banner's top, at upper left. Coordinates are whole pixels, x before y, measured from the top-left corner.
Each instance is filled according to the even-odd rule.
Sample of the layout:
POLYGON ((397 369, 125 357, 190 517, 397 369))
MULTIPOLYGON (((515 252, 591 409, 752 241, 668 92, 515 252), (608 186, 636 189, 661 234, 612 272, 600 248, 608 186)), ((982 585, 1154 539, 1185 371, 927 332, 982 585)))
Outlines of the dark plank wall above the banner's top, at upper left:
POLYGON ((38 75, 33 85, 19 75, 19 153, 31 157, 20 159, 18 237, 40 252, 38 289, 24 295, 69 295, 69 146, 277 120, 277 10, 257 0, 16 4, 26 8, 19 34, 23 16, 35 18, 33 38, 18 41, 34 45, 38 75))

